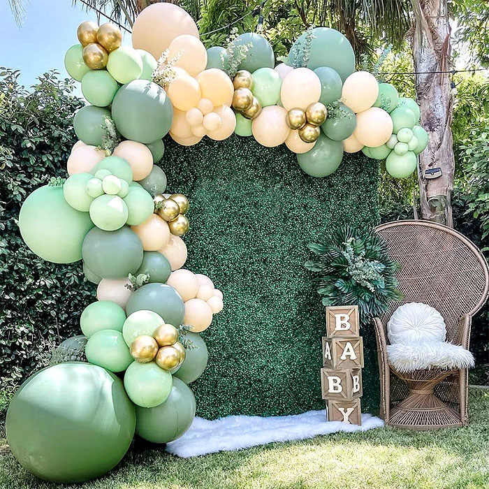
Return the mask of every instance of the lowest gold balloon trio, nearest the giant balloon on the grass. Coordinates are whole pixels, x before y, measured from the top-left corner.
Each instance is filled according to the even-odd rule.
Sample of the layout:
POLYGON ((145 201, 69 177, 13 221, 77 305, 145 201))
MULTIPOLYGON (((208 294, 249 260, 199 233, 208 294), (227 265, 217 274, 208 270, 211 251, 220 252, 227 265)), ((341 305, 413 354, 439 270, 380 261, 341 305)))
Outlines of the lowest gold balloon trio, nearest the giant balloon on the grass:
POLYGON ((139 363, 155 360, 163 370, 171 370, 182 365, 185 349, 178 341, 178 330, 171 324, 162 324, 152 336, 140 335, 131 343, 131 356, 139 363))

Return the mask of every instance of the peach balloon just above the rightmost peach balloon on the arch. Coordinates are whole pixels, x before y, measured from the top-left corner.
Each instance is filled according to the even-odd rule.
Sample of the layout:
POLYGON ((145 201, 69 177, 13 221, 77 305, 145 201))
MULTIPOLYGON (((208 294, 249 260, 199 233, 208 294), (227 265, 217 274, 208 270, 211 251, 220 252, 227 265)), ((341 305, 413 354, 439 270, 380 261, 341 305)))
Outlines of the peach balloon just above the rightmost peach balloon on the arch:
POLYGON ((377 96, 379 96, 379 83, 368 71, 356 71, 344 80, 342 101, 355 113, 372 107, 377 96))

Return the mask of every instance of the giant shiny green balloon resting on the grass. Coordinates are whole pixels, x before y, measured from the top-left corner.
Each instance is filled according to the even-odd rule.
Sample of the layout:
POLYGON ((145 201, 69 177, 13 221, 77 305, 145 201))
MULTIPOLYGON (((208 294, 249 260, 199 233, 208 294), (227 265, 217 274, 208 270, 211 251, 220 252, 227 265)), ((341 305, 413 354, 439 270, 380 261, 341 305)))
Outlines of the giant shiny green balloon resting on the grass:
POLYGON ((89 363, 59 363, 29 377, 6 419, 10 450, 40 479, 80 483, 103 476, 126 453, 136 414, 114 374, 89 363))

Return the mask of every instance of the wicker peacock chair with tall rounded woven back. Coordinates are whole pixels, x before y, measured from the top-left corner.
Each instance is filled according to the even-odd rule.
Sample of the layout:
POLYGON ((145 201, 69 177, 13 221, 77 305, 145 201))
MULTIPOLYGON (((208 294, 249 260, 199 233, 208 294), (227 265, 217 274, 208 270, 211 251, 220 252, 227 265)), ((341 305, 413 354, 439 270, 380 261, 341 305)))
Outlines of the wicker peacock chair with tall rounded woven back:
POLYGON ((377 226, 393 260, 400 263, 404 295, 374 318, 381 381, 380 415, 387 425, 435 430, 467 425, 467 370, 396 372, 388 364, 387 323, 397 307, 423 302, 446 323, 446 341, 469 349, 472 316, 488 297, 488 264, 464 235, 430 221, 395 221, 377 226))

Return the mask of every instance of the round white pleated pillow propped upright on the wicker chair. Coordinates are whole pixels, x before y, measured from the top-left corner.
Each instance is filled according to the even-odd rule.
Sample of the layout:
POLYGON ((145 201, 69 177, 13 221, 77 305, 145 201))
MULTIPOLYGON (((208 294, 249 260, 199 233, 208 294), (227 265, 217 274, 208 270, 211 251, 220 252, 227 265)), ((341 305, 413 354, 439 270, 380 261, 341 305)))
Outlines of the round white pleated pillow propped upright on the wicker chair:
POLYGON ((391 344, 445 341, 446 326, 441 314, 421 302, 410 302, 395 309, 387 323, 391 344))

